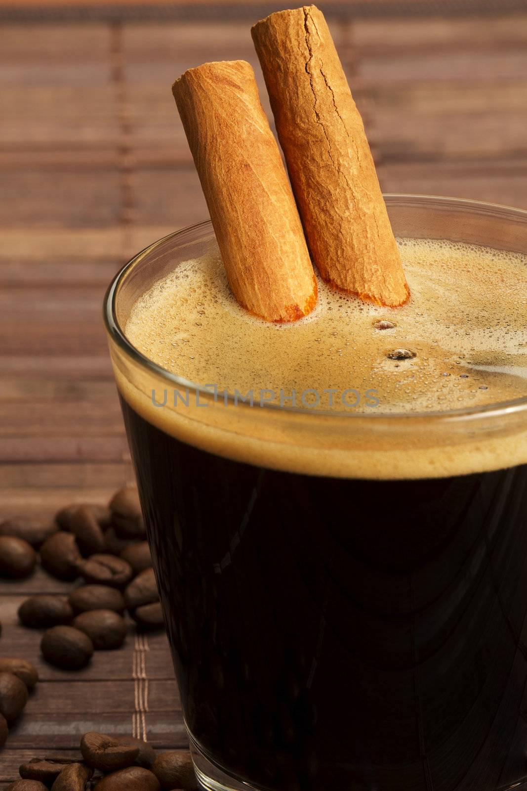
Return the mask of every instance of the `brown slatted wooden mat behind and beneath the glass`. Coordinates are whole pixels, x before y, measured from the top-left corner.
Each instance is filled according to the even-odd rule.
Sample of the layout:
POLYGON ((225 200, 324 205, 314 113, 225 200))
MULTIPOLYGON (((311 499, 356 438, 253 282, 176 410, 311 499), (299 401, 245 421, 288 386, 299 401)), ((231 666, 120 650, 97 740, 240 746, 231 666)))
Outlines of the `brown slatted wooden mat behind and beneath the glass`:
MULTIPOLYGON (((64 5, 54 21, 42 4, 0 5, 0 517, 104 503, 132 479, 104 290, 138 249, 206 216, 171 82, 205 60, 257 66, 248 4, 213 18, 201 0, 210 13, 158 21, 152 7, 149 21, 119 2, 111 21, 83 21, 100 3, 61 17, 64 5)), ((410 5, 329 6, 382 186, 527 208, 527 6, 476 0, 472 15, 439 18, 439 3, 410 5)), ((42 572, 0 581, 0 655, 36 661, 42 679, 0 752, 0 788, 23 759, 70 751, 90 729, 186 744, 164 635, 130 630, 81 672, 39 660, 17 606, 68 587, 42 572)))

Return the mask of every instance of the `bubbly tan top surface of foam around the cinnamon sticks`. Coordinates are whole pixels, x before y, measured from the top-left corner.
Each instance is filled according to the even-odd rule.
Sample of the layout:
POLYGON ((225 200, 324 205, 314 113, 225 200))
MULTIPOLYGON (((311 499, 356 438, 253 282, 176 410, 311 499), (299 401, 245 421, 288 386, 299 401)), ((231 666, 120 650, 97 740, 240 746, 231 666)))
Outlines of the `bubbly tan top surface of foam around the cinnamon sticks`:
POLYGON ((219 255, 210 255, 183 263, 141 297, 126 335, 193 382, 272 390, 274 399, 264 397, 277 403, 281 388, 288 406, 293 390, 298 407, 312 408, 318 394, 321 409, 383 413, 527 395, 527 260, 441 242, 405 240, 401 250, 412 288, 402 308, 367 305, 320 282, 311 316, 265 323, 239 308, 219 255), (383 320, 395 326, 378 328, 383 320), (342 400, 350 388, 361 394, 354 407, 355 394, 342 400), (316 394, 302 400, 307 390, 316 394))

